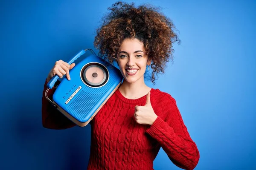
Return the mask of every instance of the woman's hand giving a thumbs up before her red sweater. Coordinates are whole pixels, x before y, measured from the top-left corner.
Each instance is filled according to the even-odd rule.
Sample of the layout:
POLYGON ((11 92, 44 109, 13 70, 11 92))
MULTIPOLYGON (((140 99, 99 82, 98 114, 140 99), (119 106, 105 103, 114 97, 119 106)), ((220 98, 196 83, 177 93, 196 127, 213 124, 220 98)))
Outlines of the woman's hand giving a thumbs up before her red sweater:
POLYGON ((147 101, 145 106, 135 106, 134 117, 137 123, 143 125, 152 125, 157 119, 157 115, 150 102, 150 92, 147 94, 147 101))

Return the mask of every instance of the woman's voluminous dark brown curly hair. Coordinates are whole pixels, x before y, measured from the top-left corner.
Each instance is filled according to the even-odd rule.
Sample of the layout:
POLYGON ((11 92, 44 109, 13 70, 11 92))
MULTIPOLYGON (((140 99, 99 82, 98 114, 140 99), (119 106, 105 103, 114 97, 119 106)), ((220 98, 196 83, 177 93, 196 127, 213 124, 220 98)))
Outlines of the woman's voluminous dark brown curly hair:
POLYGON ((117 53, 125 38, 137 38, 143 42, 145 54, 151 61, 151 82, 155 74, 164 73, 166 62, 173 62, 172 44, 180 40, 174 31, 172 20, 150 5, 137 8, 134 3, 117 2, 108 8, 111 12, 102 18, 102 26, 96 30, 94 46, 99 56, 110 63, 118 60, 117 53))

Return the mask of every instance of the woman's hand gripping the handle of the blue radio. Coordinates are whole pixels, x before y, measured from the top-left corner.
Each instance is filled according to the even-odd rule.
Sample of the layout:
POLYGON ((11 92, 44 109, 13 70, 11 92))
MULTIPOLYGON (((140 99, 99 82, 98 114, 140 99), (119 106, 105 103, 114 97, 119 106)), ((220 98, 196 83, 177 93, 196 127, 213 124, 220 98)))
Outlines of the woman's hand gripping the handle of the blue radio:
POLYGON ((55 75, 58 75, 59 78, 62 78, 65 74, 67 79, 70 80, 70 74, 69 71, 75 67, 75 63, 68 64, 67 62, 62 61, 61 59, 55 62, 55 65, 51 69, 51 71, 48 74, 47 82, 50 81, 52 77, 55 75))

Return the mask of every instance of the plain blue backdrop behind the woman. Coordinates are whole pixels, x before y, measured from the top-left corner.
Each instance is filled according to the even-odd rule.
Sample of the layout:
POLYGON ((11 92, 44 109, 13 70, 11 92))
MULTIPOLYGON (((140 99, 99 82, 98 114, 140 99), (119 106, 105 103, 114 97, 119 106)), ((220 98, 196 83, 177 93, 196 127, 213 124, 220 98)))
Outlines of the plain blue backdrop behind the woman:
MULTIPOLYGON (((55 61, 94 49, 95 29, 114 2, 0 2, 1 170, 87 167, 90 126, 43 128, 41 97, 55 61)), ((155 86, 147 84, 176 99, 200 151, 195 169, 256 169, 256 1, 137 0, 136 5, 144 2, 162 6, 180 31, 174 64, 155 86)), ((154 168, 180 169, 162 149, 154 168)))

